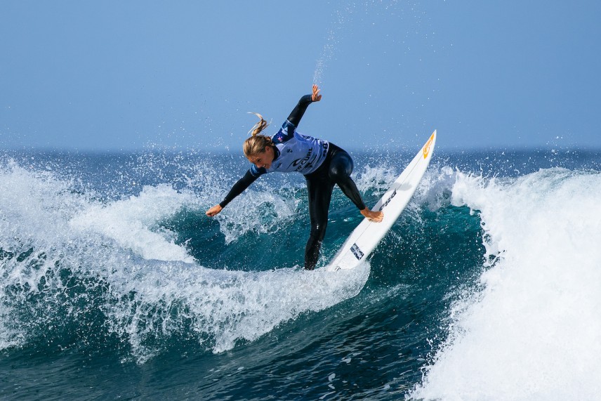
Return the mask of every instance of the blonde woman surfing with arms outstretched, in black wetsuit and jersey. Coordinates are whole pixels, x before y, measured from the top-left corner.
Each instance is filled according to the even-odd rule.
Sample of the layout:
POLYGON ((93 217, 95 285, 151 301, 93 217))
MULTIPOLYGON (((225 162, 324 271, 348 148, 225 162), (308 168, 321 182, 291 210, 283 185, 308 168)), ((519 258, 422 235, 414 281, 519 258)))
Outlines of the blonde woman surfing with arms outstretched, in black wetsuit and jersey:
POLYGON ((305 136, 298 131, 298 123, 307 107, 322 100, 319 87, 313 85, 312 93, 305 95, 290 113, 282 128, 272 136, 260 135, 269 125, 260 114, 260 121, 253 126, 252 136, 244 141, 244 156, 253 165, 244 177, 234 184, 225 199, 206 211, 207 216, 216 216, 232 199, 249 188, 259 176, 279 171, 290 173, 297 171, 305 176, 309 192, 309 216, 311 232, 305 246, 305 269, 313 270, 319 258, 319 249, 326 233, 328 211, 334 185, 338 185, 344 194, 357 206, 360 213, 370 221, 380 222, 384 216, 381 211, 367 208, 350 178, 353 163, 350 155, 327 140, 305 136))

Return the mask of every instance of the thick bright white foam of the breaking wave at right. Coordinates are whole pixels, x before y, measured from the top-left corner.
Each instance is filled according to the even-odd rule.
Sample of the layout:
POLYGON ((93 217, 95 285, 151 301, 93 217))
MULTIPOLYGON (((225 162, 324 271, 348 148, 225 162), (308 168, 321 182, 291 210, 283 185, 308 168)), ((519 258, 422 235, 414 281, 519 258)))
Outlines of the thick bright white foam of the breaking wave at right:
POLYGON ((480 213, 482 291, 411 394, 423 400, 601 399, 601 174, 458 172, 452 203, 480 213))

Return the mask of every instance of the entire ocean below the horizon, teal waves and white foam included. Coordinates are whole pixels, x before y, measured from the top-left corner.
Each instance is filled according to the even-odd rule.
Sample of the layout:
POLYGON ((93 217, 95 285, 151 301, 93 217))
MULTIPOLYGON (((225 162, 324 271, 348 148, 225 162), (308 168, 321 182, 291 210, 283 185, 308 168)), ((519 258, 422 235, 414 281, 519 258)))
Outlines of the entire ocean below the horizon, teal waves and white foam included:
MULTIPOLYGON (((352 152, 374 204, 416 150, 352 152)), ((0 399, 601 400, 600 152, 439 152, 369 262, 304 271, 303 177, 0 152, 0 399)), ((320 265, 359 223, 336 188, 320 265)))

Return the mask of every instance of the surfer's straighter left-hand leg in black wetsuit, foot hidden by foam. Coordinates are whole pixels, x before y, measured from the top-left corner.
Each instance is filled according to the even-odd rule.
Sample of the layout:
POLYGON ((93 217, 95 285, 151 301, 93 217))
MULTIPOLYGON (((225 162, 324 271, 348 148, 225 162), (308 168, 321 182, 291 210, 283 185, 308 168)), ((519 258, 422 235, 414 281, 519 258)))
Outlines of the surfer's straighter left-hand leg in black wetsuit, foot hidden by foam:
POLYGON ((313 270, 319 258, 326 227, 334 183, 325 174, 305 176, 309 192, 311 232, 305 246, 305 269, 313 270))

